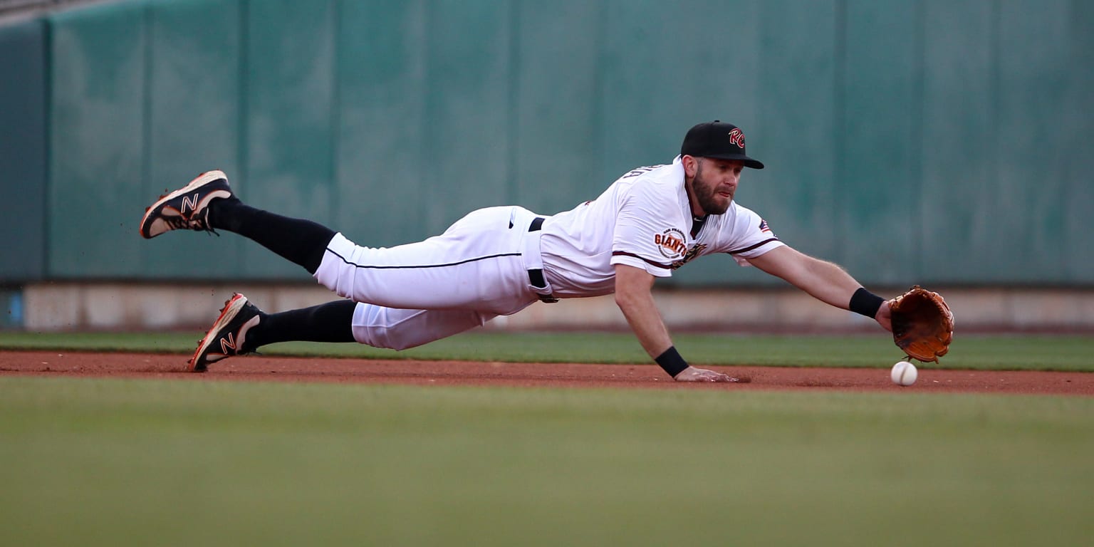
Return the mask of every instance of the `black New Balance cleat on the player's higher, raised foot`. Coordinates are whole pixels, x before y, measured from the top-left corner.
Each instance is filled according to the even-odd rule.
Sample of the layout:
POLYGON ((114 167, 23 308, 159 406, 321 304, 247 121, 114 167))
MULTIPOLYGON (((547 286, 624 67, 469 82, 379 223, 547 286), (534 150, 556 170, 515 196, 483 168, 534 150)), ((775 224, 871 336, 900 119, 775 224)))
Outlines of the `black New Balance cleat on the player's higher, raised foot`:
POLYGON ((190 181, 190 184, 160 196, 160 199, 144 211, 144 218, 140 221, 140 235, 150 240, 172 230, 212 232, 208 220, 209 202, 230 197, 232 189, 228 186, 228 176, 223 171, 202 173, 190 181))

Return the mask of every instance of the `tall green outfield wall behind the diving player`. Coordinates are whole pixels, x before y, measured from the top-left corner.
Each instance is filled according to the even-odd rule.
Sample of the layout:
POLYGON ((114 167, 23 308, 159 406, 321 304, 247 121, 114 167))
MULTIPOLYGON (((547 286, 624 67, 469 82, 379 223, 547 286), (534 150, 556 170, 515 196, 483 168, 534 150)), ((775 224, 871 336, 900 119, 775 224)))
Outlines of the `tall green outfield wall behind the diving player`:
POLYGON ((569 209, 720 118, 768 165, 737 200, 865 283, 1094 284, 1084 0, 133 0, 0 26, 0 79, 8 282, 305 281, 138 221, 222 168, 389 246, 569 209))

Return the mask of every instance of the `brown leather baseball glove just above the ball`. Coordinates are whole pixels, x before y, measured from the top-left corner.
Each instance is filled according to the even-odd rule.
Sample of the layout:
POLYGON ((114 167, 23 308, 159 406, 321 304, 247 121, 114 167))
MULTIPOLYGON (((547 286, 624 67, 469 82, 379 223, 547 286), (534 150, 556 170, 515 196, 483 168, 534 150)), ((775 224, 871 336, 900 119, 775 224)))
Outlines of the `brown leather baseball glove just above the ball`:
POLYGON ((915 286, 889 301, 893 341, 908 357, 939 362, 954 338, 954 314, 942 295, 915 286))

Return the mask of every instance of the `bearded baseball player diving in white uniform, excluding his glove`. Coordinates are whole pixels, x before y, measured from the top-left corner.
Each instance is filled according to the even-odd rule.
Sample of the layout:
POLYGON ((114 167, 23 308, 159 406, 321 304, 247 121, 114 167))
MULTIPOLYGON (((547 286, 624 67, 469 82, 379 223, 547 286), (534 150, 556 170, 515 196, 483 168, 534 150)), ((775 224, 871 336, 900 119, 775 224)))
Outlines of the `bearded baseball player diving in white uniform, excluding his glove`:
POLYGON ((688 365, 651 294, 656 278, 712 253, 729 254, 892 330, 884 299, 839 266, 779 241, 764 219, 733 200, 744 167, 764 164, 745 153, 740 128, 699 124, 671 164, 632 170, 574 209, 554 216, 521 207, 479 209, 440 235, 391 248, 361 246, 310 220, 249 207, 224 173, 210 171, 152 203, 140 233, 151 238, 179 229, 234 232, 344 296, 267 314, 233 295, 189 361, 196 372, 288 340, 412 348, 537 301, 614 293, 642 348, 675 380, 736 382, 688 365))

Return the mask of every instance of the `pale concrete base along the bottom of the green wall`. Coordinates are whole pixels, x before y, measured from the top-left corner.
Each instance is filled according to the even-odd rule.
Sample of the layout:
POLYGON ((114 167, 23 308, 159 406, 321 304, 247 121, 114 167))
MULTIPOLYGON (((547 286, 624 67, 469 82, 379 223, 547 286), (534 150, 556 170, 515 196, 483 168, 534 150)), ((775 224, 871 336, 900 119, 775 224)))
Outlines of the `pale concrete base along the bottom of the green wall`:
MULTIPOLYGON (((903 289, 878 291, 892 296, 903 289)), ((939 288, 958 330, 1063 330, 1094 333, 1094 290, 939 288)), ((205 329, 233 292, 267 312, 336 300, 326 289, 301 284, 58 283, 23 288, 27 330, 205 329)), ((793 288, 674 290, 654 294, 673 329, 755 331, 854 331, 876 328, 860 315, 837 310, 793 288)), ((627 329, 609 296, 535 303, 498 317, 494 330, 627 329)))

